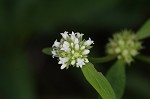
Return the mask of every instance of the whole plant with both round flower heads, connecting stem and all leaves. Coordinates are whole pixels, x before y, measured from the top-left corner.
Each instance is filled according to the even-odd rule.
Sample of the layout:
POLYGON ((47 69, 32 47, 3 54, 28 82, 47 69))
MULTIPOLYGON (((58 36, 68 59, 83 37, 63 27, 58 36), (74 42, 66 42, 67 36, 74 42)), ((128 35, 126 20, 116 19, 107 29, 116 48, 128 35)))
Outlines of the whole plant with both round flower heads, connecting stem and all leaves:
POLYGON ((99 93, 103 99, 121 99, 125 89, 126 74, 125 65, 132 65, 134 59, 150 63, 150 57, 140 54, 143 47, 141 40, 150 37, 150 20, 142 28, 133 33, 129 30, 117 32, 106 44, 107 56, 91 58, 88 56, 94 41, 83 39, 82 33, 60 33, 60 41, 55 40, 50 48, 44 48, 43 52, 58 59, 60 69, 68 69, 70 66, 81 68, 87 81, 99 93), (98 72, 92 63, 104 63, 116 59, 104 76, 98 72))

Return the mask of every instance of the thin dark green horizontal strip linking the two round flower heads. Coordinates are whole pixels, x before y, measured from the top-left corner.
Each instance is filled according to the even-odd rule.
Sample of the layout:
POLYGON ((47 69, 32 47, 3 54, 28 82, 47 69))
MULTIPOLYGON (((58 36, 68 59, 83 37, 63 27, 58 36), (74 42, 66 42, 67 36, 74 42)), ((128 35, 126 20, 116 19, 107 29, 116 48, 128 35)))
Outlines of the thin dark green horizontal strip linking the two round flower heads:
POLYGON ((89 58, 89 61, 92 63, 104 63, 104 62, 109 62, 115 58, 116 58, 116 55, 109 55, 109 56, 100 57, 100 58, 89 58))

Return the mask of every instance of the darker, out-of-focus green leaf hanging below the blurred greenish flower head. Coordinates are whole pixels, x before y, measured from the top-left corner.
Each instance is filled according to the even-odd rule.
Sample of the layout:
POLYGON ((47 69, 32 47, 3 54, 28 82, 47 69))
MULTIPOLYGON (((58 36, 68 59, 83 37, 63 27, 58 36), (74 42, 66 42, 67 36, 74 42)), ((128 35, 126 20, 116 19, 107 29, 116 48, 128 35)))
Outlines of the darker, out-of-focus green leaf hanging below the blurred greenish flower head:
POLYGON ((107 72, 106 78, 110 82, 117 99, 121 99, 125 89, 125 63, 118 60, 107 72))

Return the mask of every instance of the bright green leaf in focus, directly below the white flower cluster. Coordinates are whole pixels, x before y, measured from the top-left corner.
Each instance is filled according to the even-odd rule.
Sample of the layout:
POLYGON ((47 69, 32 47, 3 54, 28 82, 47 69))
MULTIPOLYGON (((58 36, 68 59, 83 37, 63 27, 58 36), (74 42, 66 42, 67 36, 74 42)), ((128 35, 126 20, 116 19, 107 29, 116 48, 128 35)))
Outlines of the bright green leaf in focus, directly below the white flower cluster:
POLYGON ((82 72, 87 81, 101 95, 103 99, 116 99, 115 93, 102 73, 97 72, 92 63, 82 67, 82 72))

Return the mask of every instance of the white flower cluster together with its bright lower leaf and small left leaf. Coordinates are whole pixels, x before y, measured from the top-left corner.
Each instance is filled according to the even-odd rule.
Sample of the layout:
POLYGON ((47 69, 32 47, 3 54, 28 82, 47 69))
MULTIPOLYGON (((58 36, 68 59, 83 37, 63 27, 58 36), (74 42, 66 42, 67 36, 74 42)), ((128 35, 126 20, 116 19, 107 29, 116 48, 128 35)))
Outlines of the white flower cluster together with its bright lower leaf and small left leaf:
POLYGON ((83 39, 84 34, 79 32, 68 33, 65 31, 60 34, 62 35, 60 41, 55 40, 52 48, 44 48, 43 52, 52 55, 53 58, 58 58, 61 69, 67 69, 69 66, 80 67, 87 81, 103 99, 116 99, 108 80, 94 68, 88 59, 94 41, 91 38, 83 39))

